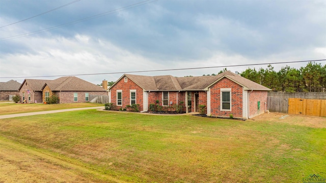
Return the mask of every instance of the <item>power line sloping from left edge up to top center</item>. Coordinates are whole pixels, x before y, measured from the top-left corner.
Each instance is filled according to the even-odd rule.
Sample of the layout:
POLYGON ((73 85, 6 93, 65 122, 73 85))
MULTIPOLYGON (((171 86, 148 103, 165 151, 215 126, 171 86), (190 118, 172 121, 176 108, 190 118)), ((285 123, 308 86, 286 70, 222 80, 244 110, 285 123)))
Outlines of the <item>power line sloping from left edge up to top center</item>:
MULTIPOLYGON (((155 1, 158 1, 158 0, 155 0, 155 1)), ((151 1, 151 0, 142 1, 142 2, 135 3, 135 4, 132 4, 132 5, 128 5, 128 6, 125 6, 125 7, 122 7, 122 8, 118 8, 118 9, 110 10, 110 11, 107 11, 107 12, 104 12, 104 13, 96 14, 96 15, 93 15, 93 16, 90 16, 90 17, 86 17, 86 18, 71 21, 71 22, 68 22, 68 23, 56 25, 54 27, 50 27, 50 28, 47 28, 47 29, 42 29, 42 30, 30 32, 30 33, 20 34, 20 35, 16 35, 16 36, 10 36, 10 37, 6 37, 6 38, 1 38, 0 41, 7 41, 7 40, 11 40, 11 39, 21 38, 21 37, 25 37, 25 36, 30 36, 30 35, 46 32, 46 31, 58 29, 58 28, 66 26, 66 25, 71 25, 71 24, 82 22, 82 21, 87 21, 87 20, 90 20, 90 19, 93 19, 93 18, 98 18, 98 17, 110 15, 110 14, 117 13, 117 12, 120 12, 120 11, 128 10, 128 9, 135 8, 135 7, 138 7, 138 6, 143 6, 143 5, 146 5, 146 4, 149 4, 149 3, 153 3, 155 1, 151 1)))

